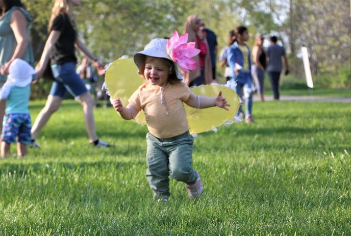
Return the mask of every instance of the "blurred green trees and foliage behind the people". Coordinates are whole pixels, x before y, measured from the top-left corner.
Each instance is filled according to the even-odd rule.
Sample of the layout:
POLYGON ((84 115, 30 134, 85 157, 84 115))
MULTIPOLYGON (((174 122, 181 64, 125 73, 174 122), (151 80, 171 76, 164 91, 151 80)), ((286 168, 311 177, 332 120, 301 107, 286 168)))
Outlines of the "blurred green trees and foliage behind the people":
MULTIPOLYGON (((53 0, 22 1, 34 18, 32 44, 39 60, 53 0)), ((79 37, 104 63, 132 56, 152 38, 169 37, 175 29, 183 32, 187 16, 197 14, 217 34, 219 51, 228 44, 228 32, 243 24, 250 32, 249 46, 256 33, 280 36, 295 77, 305 75, 299 58, 304 45, 318 86, 349 88, 348 7, 347 1, 333 0, 89 0, 74 15, 79 37)), ((217 68, 220 76, 223 70, 217 68)))

